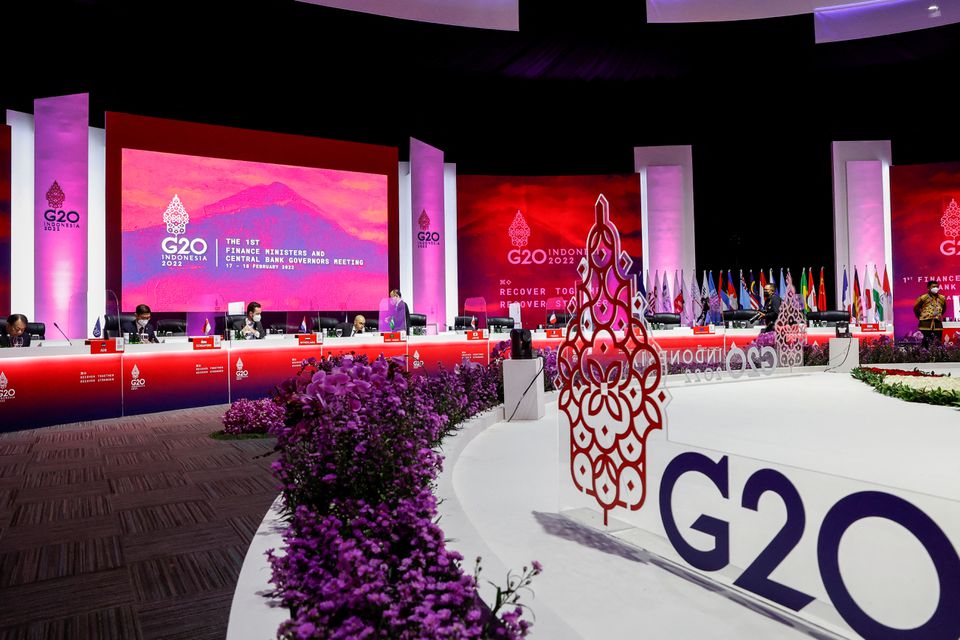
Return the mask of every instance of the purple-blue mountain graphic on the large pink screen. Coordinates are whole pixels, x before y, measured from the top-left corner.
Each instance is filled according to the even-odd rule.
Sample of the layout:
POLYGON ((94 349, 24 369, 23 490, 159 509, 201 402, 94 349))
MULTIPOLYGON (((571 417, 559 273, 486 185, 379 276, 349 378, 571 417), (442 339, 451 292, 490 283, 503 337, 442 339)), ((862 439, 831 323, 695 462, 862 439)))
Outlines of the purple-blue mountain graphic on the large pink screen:
MULTIPOLYGON (((172 198, 172 194, 169 197, 172 198)), ((313 306, 311 301, 315 303, 328 296, 375 299, 386 287, 386 244, 356 237, 321 205, 282 182, 249 187, 210 204, 187 207, 187 210, 190 224, 183 237, 203 239, 207 243, 207 260, 185 259, 179 267, 161 264, 161 242, 169 234, 163 211, 158 210, 156 225, 123 233, 125 295, 129 292, 145 300, 153 299, 161 309, 203 310, 200 308, 203 305, 196 302, 197 296, 209 292, 229 300, 270 300, 274 309, 287 305, 308 309, 313 306), (239 244, 228 244, 228 239, 239 240, 239 244), (248 240, 259 240, 259 244, 248 244, 248 240), (315 251, 323 251, 331 264, 298 264, 290 271, 255 269, 252 264, 244 268, 242 262, 225 260, 227 247, 256 246, 260 248, 261 264, 268 262, 267 249, 305 250, 306 257, 311 258, 316 257, 315 251), (364 265, 332 264, 337 258, 362 259, 364 265), (343 287, 345 275, 350 278, 350 287, 346 288, 343 287)), ((289 264, 289 257, 287 261, 289 264)))

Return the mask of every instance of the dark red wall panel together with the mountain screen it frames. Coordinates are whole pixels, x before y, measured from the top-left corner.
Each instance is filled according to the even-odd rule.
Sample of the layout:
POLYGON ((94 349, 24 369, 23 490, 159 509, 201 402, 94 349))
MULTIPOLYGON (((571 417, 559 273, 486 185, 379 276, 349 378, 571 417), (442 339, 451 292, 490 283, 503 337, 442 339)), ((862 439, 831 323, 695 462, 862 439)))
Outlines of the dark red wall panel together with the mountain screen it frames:
POLYGON ((124 311, 375 309, 399 281, 397 149, 108 113, 124 311))

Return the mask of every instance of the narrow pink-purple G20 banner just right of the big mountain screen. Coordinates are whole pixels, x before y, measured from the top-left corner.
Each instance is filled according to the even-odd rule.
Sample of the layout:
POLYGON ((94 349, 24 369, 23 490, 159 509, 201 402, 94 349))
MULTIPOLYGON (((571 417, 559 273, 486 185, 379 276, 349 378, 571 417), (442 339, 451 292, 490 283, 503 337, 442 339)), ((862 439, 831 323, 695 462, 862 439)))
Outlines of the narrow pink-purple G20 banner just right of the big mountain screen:
POLYGON ((427 324, 446 325, 443 152, 410 138, 410 199, 413 203, 413 313, 427 324))

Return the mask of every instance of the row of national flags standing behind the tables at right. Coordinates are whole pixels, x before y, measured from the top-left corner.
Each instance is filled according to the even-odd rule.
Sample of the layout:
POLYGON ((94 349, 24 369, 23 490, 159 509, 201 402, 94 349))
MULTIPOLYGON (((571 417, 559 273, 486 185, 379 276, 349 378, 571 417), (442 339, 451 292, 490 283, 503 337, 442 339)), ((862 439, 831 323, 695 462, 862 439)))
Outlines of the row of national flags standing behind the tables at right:
MULTIPOLYGON (((858 322, 889 322, 892 320, 893 296, 886 268, 882 277, 876 265, 868 265, 863 273, 861 289, 857 268, 854 268, 852 280, 848 280, 844 268, 840 308, 850 311, 858 322)), ((813 268, 803 269, 799 286, 790 270, 782 268, 779 274, 773 269, 761 269, 756 277, 752 269, 746 272, 741 269, 739 277, 730 269, 726 273, 720 270, 717 275, 715 279, 713 271, 704 271, 698 283, 696 274, 688 281, 683 271, 662 275, 659 271, 647 271, 645 277, 638 278, 639 293, 647 303, 646 313, 679 313, 681 324, 686 326, 720 323, 724 311, 762 309, 767 284, 773 284, 781 299, 786 298, 787 286, 793 285, 803 302, 804 312, 828 310, 824 267, 820 267, 819 274, 815 274, 813 268)))

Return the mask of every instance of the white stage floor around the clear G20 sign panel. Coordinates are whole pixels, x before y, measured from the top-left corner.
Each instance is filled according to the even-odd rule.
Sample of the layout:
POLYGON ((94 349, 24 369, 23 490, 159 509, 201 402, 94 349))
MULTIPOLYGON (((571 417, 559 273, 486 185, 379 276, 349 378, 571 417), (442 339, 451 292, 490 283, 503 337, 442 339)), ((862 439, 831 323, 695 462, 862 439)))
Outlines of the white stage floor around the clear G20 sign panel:
MULTIPOLYGON (((671 378, 670 440, 960 498, 954 409, 887 398, 847 374, 696 385, 671 378)), ((458 435, 445 447, 438 485, 441 526, 468 571, 481 555, 483 576, 502 584, 506 568, 543 563, 535 597, 524 598, 537 616, 533 637, 832 637, 766 616, 735 593, 557 515, 553 400, 542 420, 458 435)))

